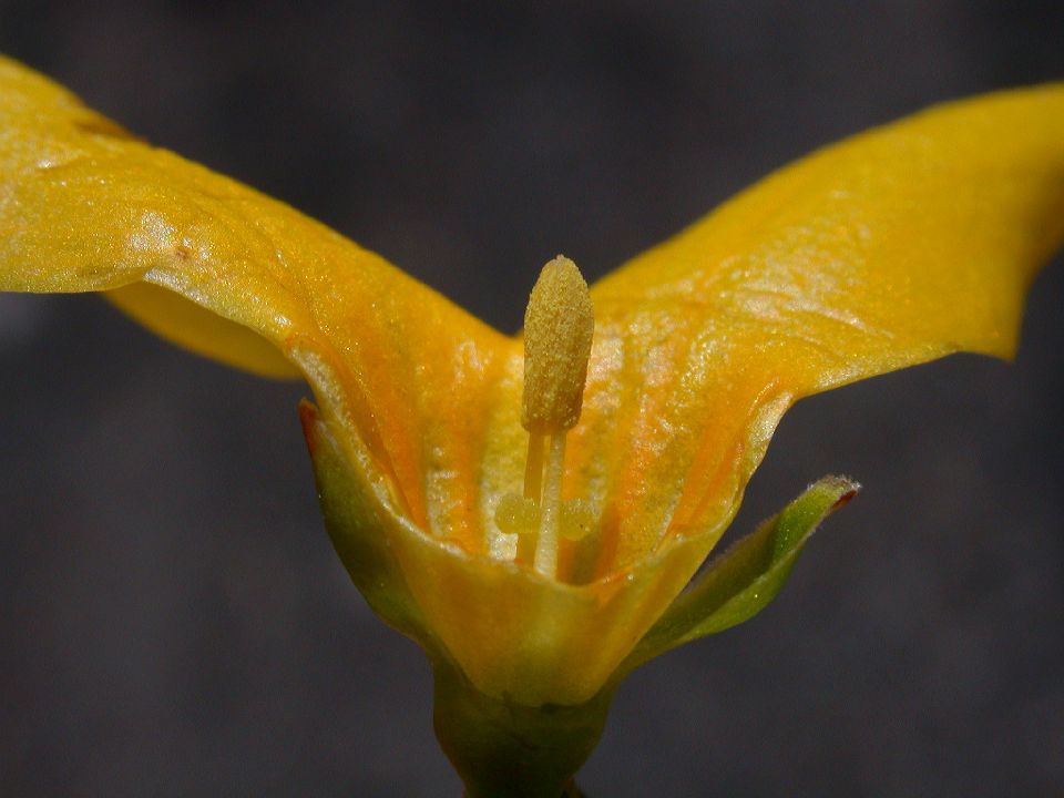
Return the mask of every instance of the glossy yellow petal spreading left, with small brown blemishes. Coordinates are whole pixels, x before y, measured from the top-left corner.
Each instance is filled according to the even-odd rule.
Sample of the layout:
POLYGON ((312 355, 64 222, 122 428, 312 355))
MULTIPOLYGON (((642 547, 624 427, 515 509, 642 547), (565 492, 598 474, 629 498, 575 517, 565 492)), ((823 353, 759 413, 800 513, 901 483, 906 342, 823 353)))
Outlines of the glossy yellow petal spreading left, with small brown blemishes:
POLYGON ((2 58, 0 289, 119 289, 120 307, 171 339, 291 374, 269 356, 276 348, 347 434, 366 440, 415 523, 428 529, 433 515, 458 540, 474 534, 466 497, 479 419, 513 341, 287 205, 129 136, 2 58))

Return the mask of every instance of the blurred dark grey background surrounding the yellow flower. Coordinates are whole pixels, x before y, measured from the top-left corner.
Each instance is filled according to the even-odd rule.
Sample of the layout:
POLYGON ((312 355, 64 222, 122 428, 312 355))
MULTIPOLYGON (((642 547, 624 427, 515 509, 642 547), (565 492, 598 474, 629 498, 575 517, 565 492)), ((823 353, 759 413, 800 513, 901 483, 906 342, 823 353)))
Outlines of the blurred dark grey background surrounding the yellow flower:
MULTIPOLYGON (((512 330, 557 252, 601 275, 811 147, 1064 76, 1064 9, 0 0, 0 51, 512 330)), ((1062 301, 1057 258, 1015 365, 787 416, 737 529, 864 493, 764 615, 625 684, 593 796, 1058 792, 1062 301)), ((94 297, 0 296, 0 794, 459 795, 321 530, 301 386, 94 297)))

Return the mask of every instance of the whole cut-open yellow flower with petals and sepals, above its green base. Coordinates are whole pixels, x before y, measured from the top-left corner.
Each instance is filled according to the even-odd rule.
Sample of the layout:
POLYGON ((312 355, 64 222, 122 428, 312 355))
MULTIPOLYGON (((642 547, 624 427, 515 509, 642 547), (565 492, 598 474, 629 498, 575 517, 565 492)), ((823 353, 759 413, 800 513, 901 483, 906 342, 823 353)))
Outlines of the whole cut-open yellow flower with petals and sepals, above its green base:
POLYGON ((565 328, 582 280, 559 260, 525 360, 521 337, 0 60, 0 289, 104 291, 193 350, 303 376, 356 584, 525 707, 591 702, 763 606, 852 483, 820 483, 676 600, 780 416, 949 352, 1011 356, 1062 236, 1064 85, 988 95, 816 153, 626 264, 591 288, 586 358, 590 317, 565 328))

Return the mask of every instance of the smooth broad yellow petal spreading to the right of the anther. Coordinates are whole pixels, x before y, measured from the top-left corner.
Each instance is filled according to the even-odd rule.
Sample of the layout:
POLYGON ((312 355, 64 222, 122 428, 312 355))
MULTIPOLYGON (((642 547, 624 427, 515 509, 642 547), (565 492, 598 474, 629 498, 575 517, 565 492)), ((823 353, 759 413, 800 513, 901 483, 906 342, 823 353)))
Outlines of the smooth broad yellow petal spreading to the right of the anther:
POLYGON ((602 572, 717 534, 796 399, 958 350, 1010 356, 1062 235, 1054 84, 822 150, 603 279, 570 450, 603 485, 602 572))

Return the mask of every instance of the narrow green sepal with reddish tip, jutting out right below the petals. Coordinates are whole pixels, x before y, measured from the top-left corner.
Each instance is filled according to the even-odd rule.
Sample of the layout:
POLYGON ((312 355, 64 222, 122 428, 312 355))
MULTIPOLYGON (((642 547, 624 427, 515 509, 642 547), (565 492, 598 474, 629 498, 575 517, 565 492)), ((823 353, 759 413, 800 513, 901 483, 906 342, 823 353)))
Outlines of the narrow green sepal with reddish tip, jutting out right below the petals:
POLYGON ((671 648, 724 632, 764 610, 820 522, 858 490, 860 485, 845 477, 825 477, 810 485, 778 515, 710 562, 636 644, 618 673, 627 674, 671 648))

